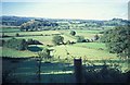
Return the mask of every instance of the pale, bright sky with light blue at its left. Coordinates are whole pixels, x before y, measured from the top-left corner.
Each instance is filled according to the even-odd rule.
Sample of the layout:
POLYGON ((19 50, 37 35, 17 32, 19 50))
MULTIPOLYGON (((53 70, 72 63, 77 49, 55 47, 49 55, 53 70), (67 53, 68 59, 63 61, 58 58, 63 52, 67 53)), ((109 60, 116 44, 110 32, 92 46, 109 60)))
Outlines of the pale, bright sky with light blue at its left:
POLYGON ((129 0, 2 0, 2 15, 112 20, 128 19, 129 0))

